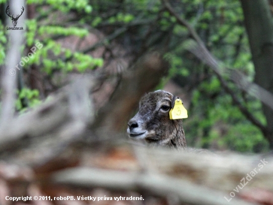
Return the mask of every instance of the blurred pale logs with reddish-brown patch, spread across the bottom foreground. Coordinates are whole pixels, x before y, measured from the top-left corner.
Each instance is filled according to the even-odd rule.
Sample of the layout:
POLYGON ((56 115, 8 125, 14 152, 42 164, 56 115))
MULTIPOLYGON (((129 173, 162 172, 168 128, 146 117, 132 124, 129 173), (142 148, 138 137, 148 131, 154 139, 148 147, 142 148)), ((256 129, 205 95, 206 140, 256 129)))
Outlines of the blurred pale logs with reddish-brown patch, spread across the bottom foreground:
MULTIPOLYGON (((51 165, 48 162, 43 169, 36 167, 34 176, 22 170, 28 177, 22 179, 20 173, 17 178, 13 175, 7 181, 12 179, 14 182, 17 179, 18 184, 24 184, 25 181, 29 185, 38 182, 41 193, 51 197, 67 195, 76 198, 79 190, 103 188, 112 193, 107 197, 119 196, 117 192, 138 192, 138 196, 142 195, 144 200, 150 195, 177 198, 178 204, 183 205, 252 205, 240 198, 250 199, 252 192, 264 193, 268 198, 273 195, 272 155, 199 154, 124 143, 108 143, 97 148, 74 147, 72 153, 68 154, 69 151, 71 147, 66 150, 63 161, 76 154, 78 163, 74 168, 44 172, 51 165), (232 192, 233 197, 230 196, 232 192)), ((98 194, 80 195, 104 197, 98 194)), ((259 200, 265 200, 265 195, 261 195, 263 197, 259 200)), ((262 204, 270 203, 273 201, 262 204)))

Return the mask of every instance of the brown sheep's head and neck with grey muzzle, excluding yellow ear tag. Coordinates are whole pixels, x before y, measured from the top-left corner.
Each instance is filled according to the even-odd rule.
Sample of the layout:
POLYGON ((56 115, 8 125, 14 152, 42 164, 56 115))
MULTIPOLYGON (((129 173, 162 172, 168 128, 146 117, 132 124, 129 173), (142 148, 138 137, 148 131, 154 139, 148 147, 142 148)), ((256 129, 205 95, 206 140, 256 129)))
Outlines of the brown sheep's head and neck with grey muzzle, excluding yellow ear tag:
POLYGON ((148 144, 187 147, 182 119, 170 119, 173 98, 176 97, 165 91, 151 92, 142 97, 139 111, 128 122, 129 136, 144 139, 148 144), (169 108, 166 109, 166 106, 169 108))

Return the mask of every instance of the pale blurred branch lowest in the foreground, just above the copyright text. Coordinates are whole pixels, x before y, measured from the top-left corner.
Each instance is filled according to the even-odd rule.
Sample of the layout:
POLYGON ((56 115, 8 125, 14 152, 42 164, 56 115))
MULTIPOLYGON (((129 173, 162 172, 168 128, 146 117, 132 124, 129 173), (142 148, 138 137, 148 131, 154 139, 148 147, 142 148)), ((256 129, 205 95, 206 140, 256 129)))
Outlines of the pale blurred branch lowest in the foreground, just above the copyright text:
POLYGON ((55 173, 52 180, 54 183, 87 188, 148 191, 164 197, 175 195, 181 202, 191 205, 254 205, 239 199, 227 202, 223 197, 225 193, 154 173, 124 173, 79 167, 55 173))

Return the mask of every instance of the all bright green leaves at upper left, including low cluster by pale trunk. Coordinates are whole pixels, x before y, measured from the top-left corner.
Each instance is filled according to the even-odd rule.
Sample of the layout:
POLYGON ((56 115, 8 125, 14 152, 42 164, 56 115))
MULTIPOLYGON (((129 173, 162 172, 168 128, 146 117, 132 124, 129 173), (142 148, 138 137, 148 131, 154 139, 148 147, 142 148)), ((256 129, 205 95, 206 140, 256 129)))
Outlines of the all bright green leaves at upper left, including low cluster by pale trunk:
MULTIPOLYGON (((5 0, 0 1, 0 3, 5 0)), ((27 0, 27 4, 35 4, 38 11, 37 18, 26 19, 24 29, 25 45, 21 47, 21 57, 28 59, 23 66, 24 72, 33 65, 39 66, 41 75, 48 76, 49 81, 53 81, 55 73, 66 74, 69 72, 83 73, 88 69, 95 69, 103 65, 103 59, 94 58, 89 54, 81 51, 72 51, 63 47, 56 39, 65 38, 66 36, 77 36, 79 39, 88 35, 89 31, 86 26, 84 17, 92 11, 92 6, 88 0, 27 0), (68 16, 68 13, 81 16, 78 21, 81 24, 74 26, 65 26, 58 21, 68 16), (37 47, 38 43, 42 47, 37 47), (32 48, 35 48, 32 51, 32 48), (31 53, 30 55, 28 55, 31 53)), ((119 20, 129 22, 132 18, 130 14, 117 16, 119 20)), ((99 18, 95 22, 99 23, 99 18)), ((6 51, 6 31, 4 24, 0 21, 0 65, 4 63, 6 51)), ((51 82, 52 84, 52 82, 51 82)), ((61 85, 56 85, 61 86, 61 85)), ((23 88, 17 91, 18 98, 15 103, 16 110, 23 112, 28 107, 33 107, 40 103, 38 90, 23 88)))

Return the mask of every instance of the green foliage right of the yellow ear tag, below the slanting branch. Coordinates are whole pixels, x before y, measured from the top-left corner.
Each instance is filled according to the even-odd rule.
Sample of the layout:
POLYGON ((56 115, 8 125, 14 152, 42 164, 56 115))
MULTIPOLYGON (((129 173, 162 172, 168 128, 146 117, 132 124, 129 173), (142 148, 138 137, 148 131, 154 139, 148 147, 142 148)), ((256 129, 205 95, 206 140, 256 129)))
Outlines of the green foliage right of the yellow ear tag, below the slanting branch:
MULTIPOLYGON (((218 149, 228 147, 241 152, 268 150, 268 142, 261 130, 253 126, 237 106, 232 106, 231 97, 221 91, 216 77, 212 77, 209 82, 203 82, 200 88, 202 92, 196 90, 193 93, 190 121, 184 122, 187 137, 195 138, 190 141, 201 138, 196 146, 213 144, 218 149), (216 95, 219 92, 220 95, 216 95), (198 129, 194 130, 192 127, 197 124, 198 129)), ((262 106, 257 99, 252 99, 248 108, 258 120, 265 123, 262 106)))

